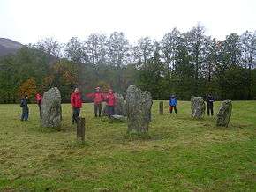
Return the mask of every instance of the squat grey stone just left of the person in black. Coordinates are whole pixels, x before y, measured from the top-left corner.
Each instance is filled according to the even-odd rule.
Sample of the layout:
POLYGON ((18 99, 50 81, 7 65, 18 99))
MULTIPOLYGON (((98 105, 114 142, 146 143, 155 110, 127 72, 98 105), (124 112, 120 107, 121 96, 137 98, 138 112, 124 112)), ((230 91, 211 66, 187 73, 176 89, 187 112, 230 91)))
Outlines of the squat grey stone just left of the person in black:
POLYGON ((192 118, 203 118, 206 112, 206 104, 202 97, 191 98, 192 118))

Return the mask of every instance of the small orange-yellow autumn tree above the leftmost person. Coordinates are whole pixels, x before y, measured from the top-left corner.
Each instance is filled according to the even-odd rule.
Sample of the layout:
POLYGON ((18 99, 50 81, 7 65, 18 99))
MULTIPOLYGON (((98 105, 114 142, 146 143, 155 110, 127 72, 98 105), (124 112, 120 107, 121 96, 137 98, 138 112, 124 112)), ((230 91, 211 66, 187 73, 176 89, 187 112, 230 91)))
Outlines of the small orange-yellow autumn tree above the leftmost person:
POLYGON ((34 97, 36 93, 36 82, 34 78, 28 78, 25 82, 19 85, 19 97, 27 95, 28 97, 34 97))

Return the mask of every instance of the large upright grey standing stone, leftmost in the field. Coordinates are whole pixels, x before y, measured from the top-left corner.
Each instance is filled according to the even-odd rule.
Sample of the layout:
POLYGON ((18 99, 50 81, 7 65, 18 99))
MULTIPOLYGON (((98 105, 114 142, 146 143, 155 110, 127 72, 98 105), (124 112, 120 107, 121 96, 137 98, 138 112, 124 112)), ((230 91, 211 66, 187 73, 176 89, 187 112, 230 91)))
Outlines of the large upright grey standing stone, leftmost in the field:
POLYGON ((42 127, 60 128, 62 120, 61 95, 54 87, 44 92, 41 102, 42 127))

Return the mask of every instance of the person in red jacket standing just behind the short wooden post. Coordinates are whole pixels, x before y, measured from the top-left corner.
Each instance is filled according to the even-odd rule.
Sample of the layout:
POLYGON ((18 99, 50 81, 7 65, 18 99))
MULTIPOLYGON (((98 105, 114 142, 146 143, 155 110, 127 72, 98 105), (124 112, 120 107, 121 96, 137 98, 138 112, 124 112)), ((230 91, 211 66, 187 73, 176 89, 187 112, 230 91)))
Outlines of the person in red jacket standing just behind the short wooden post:
POLYGON ((71 104, 72 104, 72 124, 75 122, 78 123, 78 117, 80 115, 80 108, 82 107, 82 97, 79 92, 79 88, 75 88, 75 91, 72 93, 71 96, 71 104))

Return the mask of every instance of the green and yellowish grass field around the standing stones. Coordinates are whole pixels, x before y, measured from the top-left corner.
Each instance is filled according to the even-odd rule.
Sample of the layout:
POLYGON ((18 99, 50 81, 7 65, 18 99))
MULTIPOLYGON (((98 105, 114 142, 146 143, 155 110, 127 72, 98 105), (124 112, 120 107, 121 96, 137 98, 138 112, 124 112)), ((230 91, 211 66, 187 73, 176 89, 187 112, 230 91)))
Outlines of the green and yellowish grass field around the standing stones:
POLYGON ((228 129, 192 120, 190 102, 169 114, 164 101, 162 116, 158 104, 147 139, 127 137, 126 123, 96 119, 85 104, 85 145, 69 104, 62 131, 41 128, 36 105, 28 122, 19 105, 0 105, 0 191, 256 191, 256 101, 234 101, 228 129))

